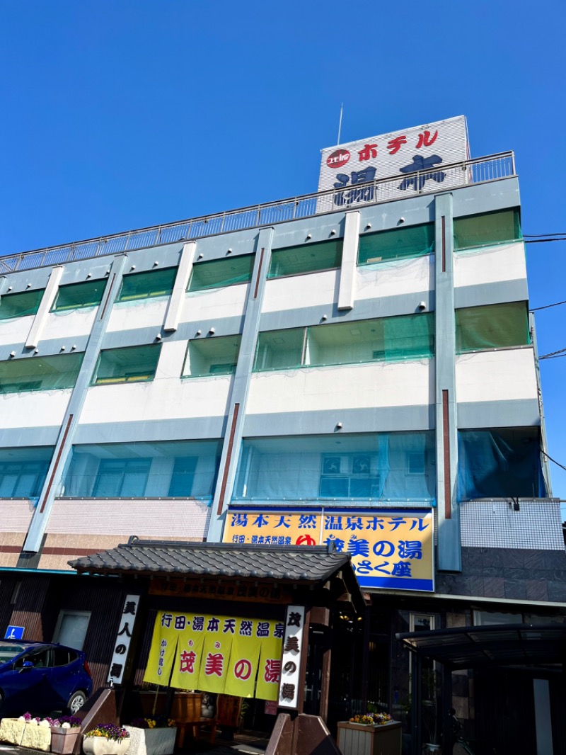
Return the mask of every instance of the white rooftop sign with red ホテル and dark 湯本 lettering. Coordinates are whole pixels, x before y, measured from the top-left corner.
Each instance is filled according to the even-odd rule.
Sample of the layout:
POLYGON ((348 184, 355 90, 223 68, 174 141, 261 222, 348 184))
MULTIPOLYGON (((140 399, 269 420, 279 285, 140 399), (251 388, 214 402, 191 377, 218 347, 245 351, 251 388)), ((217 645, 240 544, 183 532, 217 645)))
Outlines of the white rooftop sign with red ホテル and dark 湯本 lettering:
MULTIPOLYGON (((388 199, 414 196, 430 181, 438 183, 439 190, 462 186, 467 183, 467 172, 451 171, 448 175, 442 166, 469 159, 466 116, 329 146, 321 153, 318 191, 343 189, 334 194, 337 207, 379 201, 379 187, 371 182, 395 175, 399 183, 392 195, 388 184, 388 199)), ((329 210, 326 206, 318 208, 329 210)))

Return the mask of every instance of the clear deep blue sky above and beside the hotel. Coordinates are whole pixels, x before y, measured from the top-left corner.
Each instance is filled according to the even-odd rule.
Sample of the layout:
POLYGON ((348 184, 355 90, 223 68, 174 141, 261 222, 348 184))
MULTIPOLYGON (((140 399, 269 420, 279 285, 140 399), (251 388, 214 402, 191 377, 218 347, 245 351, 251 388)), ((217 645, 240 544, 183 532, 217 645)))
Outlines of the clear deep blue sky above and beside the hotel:
MULTIPOLYGON (((319 150, 464 114, 515 150, 524 233, 566 231, 564 3, 2 0, 0 254, 314 191, 319 150)), ((531 306, 566 242, 527 247, 531 306)), ((566 305, 537 316, 566 347, 566 305)), ((541 363, 566 465, 566 358, 541 363)), ((552 465, 554 494, 566 472, 552 465)))

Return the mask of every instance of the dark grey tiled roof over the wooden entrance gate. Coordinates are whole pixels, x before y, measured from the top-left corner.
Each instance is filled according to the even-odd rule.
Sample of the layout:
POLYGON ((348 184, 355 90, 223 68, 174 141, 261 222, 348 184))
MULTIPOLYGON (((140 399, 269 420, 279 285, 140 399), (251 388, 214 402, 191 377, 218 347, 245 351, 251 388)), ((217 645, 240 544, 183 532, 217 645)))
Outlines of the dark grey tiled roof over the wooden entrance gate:
POLYGON ((140 540, 69 561, 79 574, 273 580, 325 587, 334 599, 365 606, 348 553, 321 546, 260 546, 140 540))

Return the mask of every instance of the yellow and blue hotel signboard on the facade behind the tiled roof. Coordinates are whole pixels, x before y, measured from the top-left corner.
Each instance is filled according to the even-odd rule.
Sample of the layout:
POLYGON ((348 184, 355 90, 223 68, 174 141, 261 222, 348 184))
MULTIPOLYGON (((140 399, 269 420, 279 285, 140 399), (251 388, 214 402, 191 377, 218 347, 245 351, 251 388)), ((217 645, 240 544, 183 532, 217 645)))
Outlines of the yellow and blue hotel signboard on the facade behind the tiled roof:
POLYGON ((434 590, 431 510, 245 509, 231 507, 225 543, 323 545, 352 556, 360 587, 434 590))

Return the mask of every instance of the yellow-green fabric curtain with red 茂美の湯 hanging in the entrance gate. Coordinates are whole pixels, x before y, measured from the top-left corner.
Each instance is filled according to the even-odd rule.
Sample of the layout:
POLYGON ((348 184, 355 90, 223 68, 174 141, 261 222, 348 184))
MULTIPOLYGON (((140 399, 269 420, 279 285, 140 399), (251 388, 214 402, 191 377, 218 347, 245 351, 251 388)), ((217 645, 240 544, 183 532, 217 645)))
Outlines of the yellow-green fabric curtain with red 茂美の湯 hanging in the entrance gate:
POLYGON ((283 621, 159 612, 143 681, 276 700, 284 633, 283 621))

